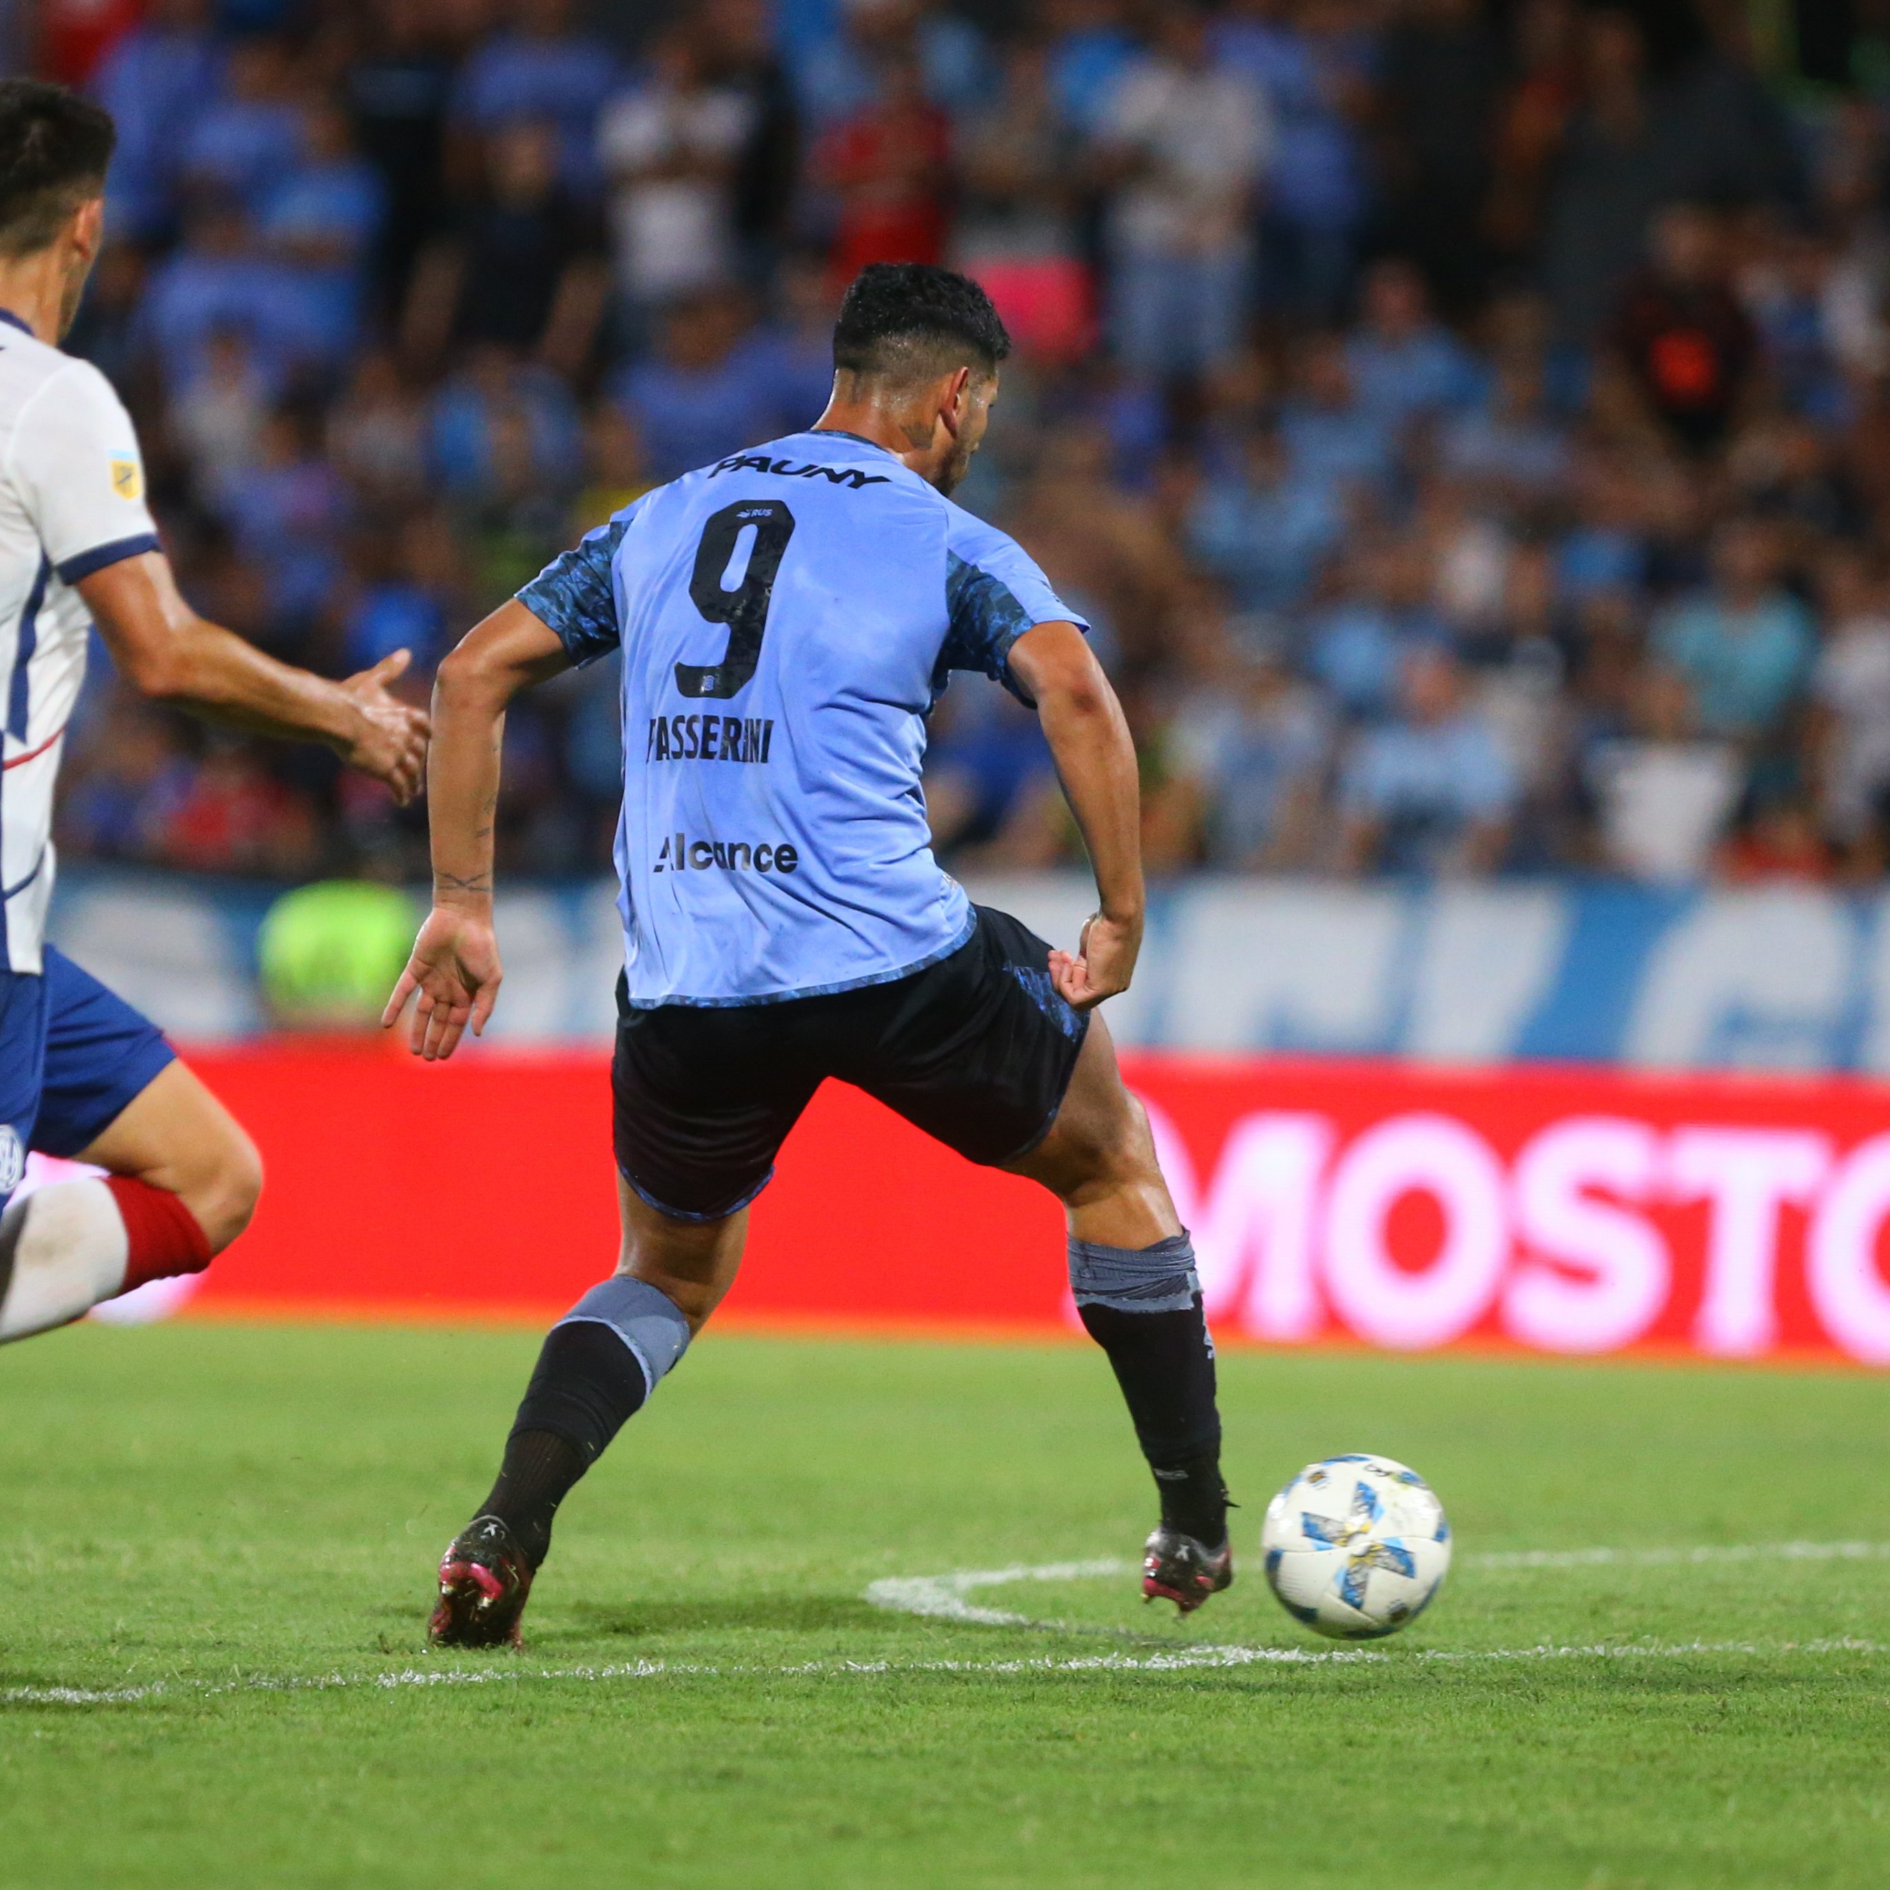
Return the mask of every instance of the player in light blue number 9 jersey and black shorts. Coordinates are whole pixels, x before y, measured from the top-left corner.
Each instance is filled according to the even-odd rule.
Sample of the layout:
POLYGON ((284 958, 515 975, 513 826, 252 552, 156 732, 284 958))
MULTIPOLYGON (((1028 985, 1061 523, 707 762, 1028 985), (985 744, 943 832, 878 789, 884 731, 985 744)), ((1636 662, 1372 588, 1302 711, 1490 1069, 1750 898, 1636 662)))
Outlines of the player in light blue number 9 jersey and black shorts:
POLYGON ((949 497, 1007 352, 964 276, 868 268, 813 429, 646 493, 440 665, 433 911, 387 1005, 393 1022, 418 992, 427 1058, 499 992, 507 703, 624 652, 624 1244, 544 1342, 499 1480, 440 1563, 435 1642, 518 1644, 559 1501, 733 1283, 748 1204, 826 1077, 1062 1200, 1077 1308, 1160 1493, 1143 1591, 1189 1612, 1232 1580, 1194 1255, 1094 1015, 1142 943, 1136 756, 1087 626, 949 497), (973 907, 932 858, 926 716, 960 669, 1041 718, 1096 875, 1074 953, 973 907))

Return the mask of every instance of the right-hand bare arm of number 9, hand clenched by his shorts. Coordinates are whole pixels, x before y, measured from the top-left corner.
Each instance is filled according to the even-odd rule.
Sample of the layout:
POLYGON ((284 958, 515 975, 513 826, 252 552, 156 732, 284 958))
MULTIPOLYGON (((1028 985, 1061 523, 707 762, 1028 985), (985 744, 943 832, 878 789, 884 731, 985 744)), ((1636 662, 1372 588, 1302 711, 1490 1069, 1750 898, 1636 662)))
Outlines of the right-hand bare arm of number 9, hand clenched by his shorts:
POLYGON ((1089 849, 1098 911, 1075 953, 1051 953, 1051 977, 1087 1011, 1128 988, 1142 951, 1142 784, 1123 705, 1075 624, 1038 624, 1011 644, 1070 813, 1089 849))

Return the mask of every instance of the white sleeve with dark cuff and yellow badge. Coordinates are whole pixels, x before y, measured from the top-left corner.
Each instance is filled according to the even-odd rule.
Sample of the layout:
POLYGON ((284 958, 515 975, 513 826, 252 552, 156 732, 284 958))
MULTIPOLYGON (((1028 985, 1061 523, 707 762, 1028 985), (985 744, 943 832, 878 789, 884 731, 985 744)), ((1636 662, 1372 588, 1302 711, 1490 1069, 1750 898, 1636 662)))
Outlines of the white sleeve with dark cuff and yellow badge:
POLYGON ((66 363, 26 403, 8 472, 66 584, 159 548, 130 414, 89 361, 66 363))

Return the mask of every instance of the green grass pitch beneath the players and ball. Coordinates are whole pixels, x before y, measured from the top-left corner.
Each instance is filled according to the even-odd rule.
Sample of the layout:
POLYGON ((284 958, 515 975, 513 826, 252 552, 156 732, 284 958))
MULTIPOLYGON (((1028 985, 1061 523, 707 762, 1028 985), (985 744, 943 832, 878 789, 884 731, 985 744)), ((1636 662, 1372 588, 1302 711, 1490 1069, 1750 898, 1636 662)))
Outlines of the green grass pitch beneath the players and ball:
POLYGON ((1881 1380, 1232 1353, 1234 1589, 968 1591, 1034 1624, 992 1625, 866 1589, 1132 1557, 1102 1357, 709 1336, 565 1504, 529 1652, 429 1656, 535 1344, 0 1353, 0 1882, 1890 1881, 1881 1380), (1331 1652, 1253 1542, 1338 1450, 1431 1478, 1450 1586, 1368 1658, 1215 1654, 1331 1652))

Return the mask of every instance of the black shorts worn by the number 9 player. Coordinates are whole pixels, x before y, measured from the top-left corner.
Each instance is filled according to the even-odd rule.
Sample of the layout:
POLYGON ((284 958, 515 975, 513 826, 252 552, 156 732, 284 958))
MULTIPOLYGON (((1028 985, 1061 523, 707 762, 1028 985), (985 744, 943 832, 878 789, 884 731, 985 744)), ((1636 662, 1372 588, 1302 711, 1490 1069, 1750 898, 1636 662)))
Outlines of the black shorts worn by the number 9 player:
POLYGON ((1057 1119, 1089 1017, 1058 996, 1049 945, 973 907, 971 937, 890 985, 779 1004, 633 1011, 616 987, 616 1164, 652 1206, 718 1221, 767 1187, 826 1077, 998 1166, 1057 1119))

